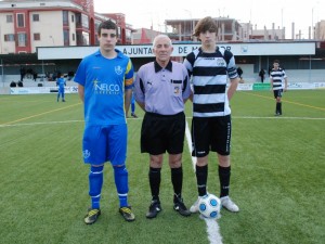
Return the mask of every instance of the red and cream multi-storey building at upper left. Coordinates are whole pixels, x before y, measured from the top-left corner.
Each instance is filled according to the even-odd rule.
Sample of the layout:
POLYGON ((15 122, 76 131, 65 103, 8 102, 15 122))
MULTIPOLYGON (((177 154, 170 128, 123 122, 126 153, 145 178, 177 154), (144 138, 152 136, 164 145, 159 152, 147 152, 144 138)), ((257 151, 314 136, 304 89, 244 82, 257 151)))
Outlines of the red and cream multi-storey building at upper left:
POLYGON ((98 44, 100 23, 118 25, 119 43, 131 43, 123 14, 94 13, 93 0, 4 0, 0 2, 0 54, 35 53, 37 47, 98 44))

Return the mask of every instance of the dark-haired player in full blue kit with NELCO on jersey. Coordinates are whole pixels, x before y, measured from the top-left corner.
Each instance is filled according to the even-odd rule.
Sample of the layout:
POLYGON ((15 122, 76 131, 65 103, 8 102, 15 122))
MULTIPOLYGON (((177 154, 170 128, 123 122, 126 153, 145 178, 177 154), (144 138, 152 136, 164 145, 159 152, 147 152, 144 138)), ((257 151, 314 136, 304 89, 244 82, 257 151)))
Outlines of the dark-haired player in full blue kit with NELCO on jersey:
POLYGON ((87 224, 101 215, 100 200, 104 164, 110 162, 119 197, 119 213, 127 221, 135 219, 128 205, 127 119, 133 87, 131 60, 115 49, 117 26, 112 21, 100 24, 100 49, 86 56, 76 73, 78 93, 84 104, 83 162, 90 165, 89 195, 91 207, 87 224))

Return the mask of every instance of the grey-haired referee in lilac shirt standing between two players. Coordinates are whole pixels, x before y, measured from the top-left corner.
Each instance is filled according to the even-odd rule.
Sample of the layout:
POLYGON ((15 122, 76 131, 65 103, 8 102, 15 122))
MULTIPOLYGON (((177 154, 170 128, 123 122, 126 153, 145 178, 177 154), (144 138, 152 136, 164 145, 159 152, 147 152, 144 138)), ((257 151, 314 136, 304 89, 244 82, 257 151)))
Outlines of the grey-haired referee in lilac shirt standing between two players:
POLYGON ((164 154, 168 152, 173 185, 173 208, 182 216, 190 216, 182 198, 182 153, 185 134, 184 103, 191 95, 185 66, 170 60, 173 47, 166 35, 154 39, 154 62, 140 67, 134 95, 145 111, 141 129, 141 153, 150 154, 148 180, 152 203, 146 217, 155 218, 161 211, 159 187, 164 154))

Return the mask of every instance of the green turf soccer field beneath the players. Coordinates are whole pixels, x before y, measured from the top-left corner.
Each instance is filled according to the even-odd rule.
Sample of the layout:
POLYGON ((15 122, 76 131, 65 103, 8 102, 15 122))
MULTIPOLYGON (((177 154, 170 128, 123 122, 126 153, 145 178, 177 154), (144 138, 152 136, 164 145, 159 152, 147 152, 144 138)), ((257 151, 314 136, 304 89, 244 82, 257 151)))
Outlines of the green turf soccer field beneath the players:
MULTIPOLYGON (((0 95, 0 233, 3 244, 212 243, 207 224, 172 209, 167 162, 160 187, 162 211, 148 220, 148 156, 140 153, 139 119, 130 118, 129 203, 136 220, 126 222, 110 165, 105 167, 102 215, 83 223, 90 204, 89 168, 82 163, 82 105, 77 94, 66 103, 56 94, 0 95), (108 166, 108 167, 107 167, 108 166)), ((274 117, 271 91, 239 91, 232 100, 231 196, 240 211, 221 210, 225 244, 324 243, 325 90, 288 91, 283 116, 274 117)), ((191 103, 186 103, 191 125, 191 103)), ((167 158, 165 158, 167 159, 167 158)), ((187 142, 183 155, 183 197, 197 198, 187 142)), ((209 160, 208 191, 219 194, 218 164, 209 160)))

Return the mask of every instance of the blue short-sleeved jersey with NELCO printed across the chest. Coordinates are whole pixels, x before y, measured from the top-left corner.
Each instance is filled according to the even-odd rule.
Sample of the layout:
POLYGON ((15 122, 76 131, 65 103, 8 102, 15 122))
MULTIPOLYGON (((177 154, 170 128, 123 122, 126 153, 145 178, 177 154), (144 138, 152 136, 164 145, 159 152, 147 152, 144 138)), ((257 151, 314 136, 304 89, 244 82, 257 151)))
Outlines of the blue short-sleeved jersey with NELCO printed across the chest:
POLYGON ((132 89, 131 60, 115 50, 115 59, 100 51, 86 56, 76 73, 75 81, 84 87, 86 125, 126 124, 125 89, 132 89))

